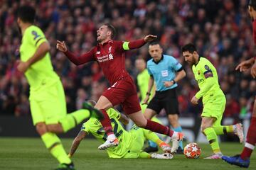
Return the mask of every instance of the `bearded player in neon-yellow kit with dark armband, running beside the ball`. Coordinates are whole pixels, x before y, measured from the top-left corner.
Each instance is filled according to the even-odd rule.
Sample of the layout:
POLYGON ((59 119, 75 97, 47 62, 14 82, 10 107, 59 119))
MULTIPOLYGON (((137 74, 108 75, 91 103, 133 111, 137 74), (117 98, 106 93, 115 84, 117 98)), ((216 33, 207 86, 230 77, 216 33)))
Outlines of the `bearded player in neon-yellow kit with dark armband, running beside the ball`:
POLYGON ((225 110, 225 95, 218 84, 218 74, 209 60, 200 57, 196 51, 196 47, 189 43, 181 49, 185 61, 192 66, 194 77, 198 83, 199 91, 191 99, 191 103, 198 104, 198 100, 202 98, 203 113, 201 114, 201 132, 213 149, 213 154, 206 159, 221 159, 223 154, 218 145, 217 135, 226 133, 235 133, 238 135, 240 142, 244 140, 242 125, 220 125, 225 110))

